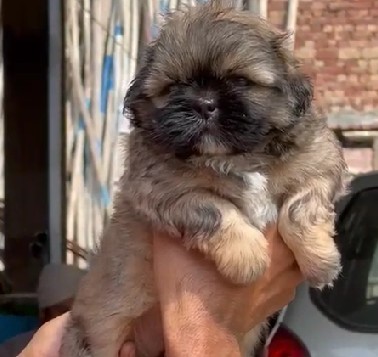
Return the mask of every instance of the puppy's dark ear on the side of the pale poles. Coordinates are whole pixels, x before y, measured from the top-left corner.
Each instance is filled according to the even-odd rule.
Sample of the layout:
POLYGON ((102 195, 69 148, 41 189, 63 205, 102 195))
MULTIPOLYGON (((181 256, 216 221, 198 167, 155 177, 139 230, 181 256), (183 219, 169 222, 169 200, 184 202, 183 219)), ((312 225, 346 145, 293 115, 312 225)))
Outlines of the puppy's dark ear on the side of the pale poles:
POLYGON ((146 102, 146 95, 144 94, 146 80, 150 74, 151 65, 153 61, 153 47, 149 46, 146 49, 144 63, 136 74, 134 80, 131 82, 128 91, 126 92, 123 101, 124 115, 131 115, 130 121, 132 124, 139 126, 140 117, 143 115, 141 110, 147 109, 144 104, 146 102))

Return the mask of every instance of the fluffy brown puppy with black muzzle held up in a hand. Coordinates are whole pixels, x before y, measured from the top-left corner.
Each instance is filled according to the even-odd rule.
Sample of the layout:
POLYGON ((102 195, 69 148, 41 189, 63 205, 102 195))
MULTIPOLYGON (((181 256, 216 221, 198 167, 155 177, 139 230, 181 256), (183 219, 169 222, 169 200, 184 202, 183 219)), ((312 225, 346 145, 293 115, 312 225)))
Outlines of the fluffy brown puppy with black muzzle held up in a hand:
MULTIPOLYGON (((169 15, 125 98, 125 172, 61 357, 118 356, 133 320, 157 302, 153 231, 245 284, 274 264, 263 231, 278 222, 312 286, 337 277, 334 202, 346 165, 286 41, 214 2, 169 15)), ((263 326, 240 339, 244 356, 263 326)))

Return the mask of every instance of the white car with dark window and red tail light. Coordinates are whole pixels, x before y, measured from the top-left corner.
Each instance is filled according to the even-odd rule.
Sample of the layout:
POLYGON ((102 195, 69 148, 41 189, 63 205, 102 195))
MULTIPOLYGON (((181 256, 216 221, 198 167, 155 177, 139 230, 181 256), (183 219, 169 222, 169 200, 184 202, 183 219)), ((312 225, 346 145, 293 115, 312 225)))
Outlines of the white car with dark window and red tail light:
POLYGON ((342 276, 333 289, 298 288, 268 357, 378 357, 378 172, 356 177, 337 212, 342 276))

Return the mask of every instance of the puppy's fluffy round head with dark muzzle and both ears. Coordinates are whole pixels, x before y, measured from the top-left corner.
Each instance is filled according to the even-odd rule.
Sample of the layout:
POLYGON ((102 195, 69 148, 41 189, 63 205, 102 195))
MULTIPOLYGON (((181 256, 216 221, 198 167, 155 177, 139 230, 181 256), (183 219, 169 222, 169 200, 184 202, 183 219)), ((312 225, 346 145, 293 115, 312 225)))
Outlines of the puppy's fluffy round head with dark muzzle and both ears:
POLYGON ((125 107, 143 135, 188 157, 259 150, 311 100, 281 34, 248 13, 204 6, 167 20, 125 107))

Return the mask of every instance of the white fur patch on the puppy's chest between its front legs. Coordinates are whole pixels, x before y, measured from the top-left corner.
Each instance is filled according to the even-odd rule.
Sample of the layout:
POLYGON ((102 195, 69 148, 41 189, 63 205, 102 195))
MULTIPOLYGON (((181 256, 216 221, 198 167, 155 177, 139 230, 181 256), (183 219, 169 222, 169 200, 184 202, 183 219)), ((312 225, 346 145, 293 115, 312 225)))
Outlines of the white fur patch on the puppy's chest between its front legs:
POLYGON ((259 172, 243 173, 241 202, 244 213, 257 228, 264 229, 277 220, 277 198, 270 192, 267 177, 259 172))

